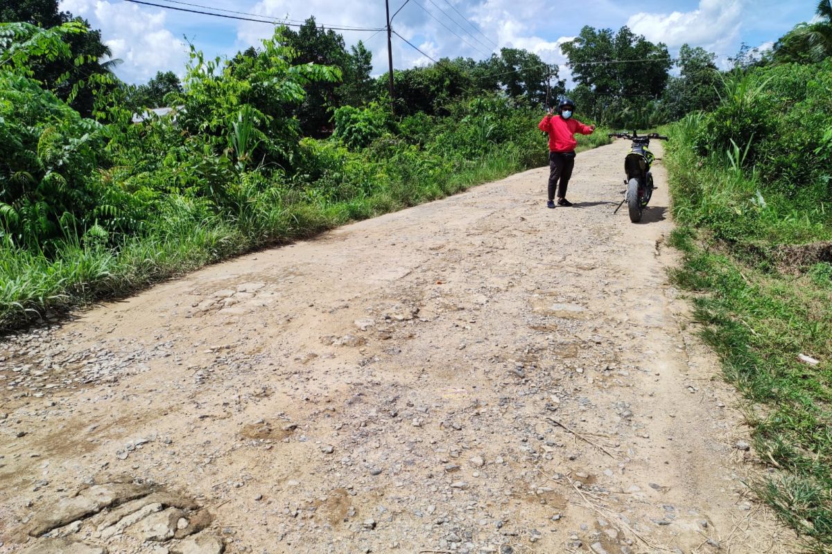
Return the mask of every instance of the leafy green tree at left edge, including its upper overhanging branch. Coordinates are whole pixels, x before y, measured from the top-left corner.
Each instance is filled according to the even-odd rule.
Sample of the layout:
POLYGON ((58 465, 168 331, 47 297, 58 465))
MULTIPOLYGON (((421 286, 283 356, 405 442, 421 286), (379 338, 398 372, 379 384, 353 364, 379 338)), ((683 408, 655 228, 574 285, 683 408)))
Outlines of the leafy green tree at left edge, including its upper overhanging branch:
POLYGON ((32 79, 31 61, 71 56, 67 45, 82 32, 78 22, 0 23, 0 238, 47 253, 62 228, 92 224, 84 214, 97 191, 86 178, 106 140, 102 125, 32 79))

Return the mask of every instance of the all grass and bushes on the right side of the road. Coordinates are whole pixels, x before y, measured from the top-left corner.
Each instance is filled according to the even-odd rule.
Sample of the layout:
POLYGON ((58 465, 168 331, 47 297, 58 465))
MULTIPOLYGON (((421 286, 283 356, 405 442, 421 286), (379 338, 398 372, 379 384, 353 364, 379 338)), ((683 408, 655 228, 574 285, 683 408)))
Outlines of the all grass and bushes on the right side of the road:
MULTIPOLYGON (((832 37, 829 15, 812 28, 832 37)), ((804 37, 801 54, 806 28, 781 39, 788 51, 721 76, 714 108, 671 126, 666 160, 685 256, 673 277, 696 292, 702 336, 749 400, 772 469, 752 486, 808 550, 830 552, 832 50, 819 59, 804 37)))

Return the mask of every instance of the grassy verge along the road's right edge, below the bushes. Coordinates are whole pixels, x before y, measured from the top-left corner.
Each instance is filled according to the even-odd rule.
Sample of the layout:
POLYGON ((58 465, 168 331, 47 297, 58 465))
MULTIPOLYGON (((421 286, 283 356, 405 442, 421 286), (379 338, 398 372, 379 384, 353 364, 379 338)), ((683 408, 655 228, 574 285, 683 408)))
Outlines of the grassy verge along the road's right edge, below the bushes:
POLYGON ((755 453, 770 468, 751 488, 807 552, 830 552, 832 265, 775 256, 832 238, 829 208, 763 182, 738 146, 701 155, 702 119, 689 115, 668 130, 671 244, 683 252, 671 278, 692 293, 701 336, 747 402, 755 453))

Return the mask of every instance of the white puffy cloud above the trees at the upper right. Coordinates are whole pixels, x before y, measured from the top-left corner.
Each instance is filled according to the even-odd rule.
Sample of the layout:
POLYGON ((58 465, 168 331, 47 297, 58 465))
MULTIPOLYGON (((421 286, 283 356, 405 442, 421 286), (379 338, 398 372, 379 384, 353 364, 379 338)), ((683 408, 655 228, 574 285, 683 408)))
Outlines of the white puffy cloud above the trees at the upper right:
POLYGON ((670 48, 682 44, 721 52, 736 42, 745 0, 701 0, 691 12, 636 13, 626 25, 651 42, 670 48))

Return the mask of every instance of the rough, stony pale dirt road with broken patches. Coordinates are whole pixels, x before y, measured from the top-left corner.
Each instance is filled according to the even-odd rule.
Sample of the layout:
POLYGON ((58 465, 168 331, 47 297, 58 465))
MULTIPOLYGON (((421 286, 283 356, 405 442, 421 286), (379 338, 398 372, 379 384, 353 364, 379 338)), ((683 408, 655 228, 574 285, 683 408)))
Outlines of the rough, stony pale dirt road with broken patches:
POLYGON ((627 148, 8 337, 0 551, 793 552, 627 148))

